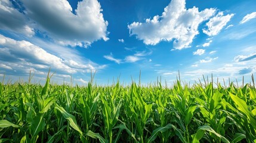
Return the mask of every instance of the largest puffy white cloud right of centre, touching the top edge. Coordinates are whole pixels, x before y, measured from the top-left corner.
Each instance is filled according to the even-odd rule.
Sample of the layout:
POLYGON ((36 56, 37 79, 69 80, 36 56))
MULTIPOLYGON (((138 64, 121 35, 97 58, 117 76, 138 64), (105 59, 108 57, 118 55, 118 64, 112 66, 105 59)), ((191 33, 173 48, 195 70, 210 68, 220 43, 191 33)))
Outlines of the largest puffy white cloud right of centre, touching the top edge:
POLYGON ((215 9, 203 11, 193 7, 187 9, 185 0, 172 0, 161 16, 146 19, 145 23, 134 22, 128 25, 130 35, 136 35, 146 45, 156 45, 161 41, 172 41, 174 48, 189 48, 198 35, 198 26, 215 13, 215 9))

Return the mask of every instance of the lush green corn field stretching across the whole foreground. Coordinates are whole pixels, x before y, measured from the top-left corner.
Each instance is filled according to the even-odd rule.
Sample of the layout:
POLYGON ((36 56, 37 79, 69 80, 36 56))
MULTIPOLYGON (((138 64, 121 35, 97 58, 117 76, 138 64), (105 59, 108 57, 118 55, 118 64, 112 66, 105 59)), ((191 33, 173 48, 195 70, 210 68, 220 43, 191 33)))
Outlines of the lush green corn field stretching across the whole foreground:
POLYGON ((254 85, 0 83, 0 142, 256 142, 254 85))

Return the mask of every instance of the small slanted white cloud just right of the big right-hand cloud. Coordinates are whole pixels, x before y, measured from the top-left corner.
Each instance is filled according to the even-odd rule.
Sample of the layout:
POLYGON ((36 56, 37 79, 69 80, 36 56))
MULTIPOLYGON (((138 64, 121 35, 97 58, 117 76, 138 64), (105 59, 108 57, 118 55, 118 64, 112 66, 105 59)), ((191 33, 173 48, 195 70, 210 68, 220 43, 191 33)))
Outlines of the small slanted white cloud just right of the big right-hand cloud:
POLYGON ((223 12, 218 13, 217 15, 215 15, 215 17, 212 17, 208 21, 208 23, 206 23, 208 29, 203 29, 203 33, 205 33, 208 36, 218 35, 221 29, 223 29, 223 27, 226 26, 226 24, 233 17, 233 15, 234 14, 224 15, 223 12))

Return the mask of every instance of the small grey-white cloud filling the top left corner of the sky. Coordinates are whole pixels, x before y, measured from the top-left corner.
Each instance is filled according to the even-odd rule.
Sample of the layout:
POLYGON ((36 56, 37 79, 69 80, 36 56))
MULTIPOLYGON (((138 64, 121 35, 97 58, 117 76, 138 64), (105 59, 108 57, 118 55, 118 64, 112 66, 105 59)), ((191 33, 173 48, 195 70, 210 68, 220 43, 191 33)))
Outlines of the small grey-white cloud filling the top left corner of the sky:
POLYGON ((0 1, 0 29, 11 30, 31 37, 35 32, 30 25, 31 23, 27 21, 26 16, 13 8, 11 1, 0 1))

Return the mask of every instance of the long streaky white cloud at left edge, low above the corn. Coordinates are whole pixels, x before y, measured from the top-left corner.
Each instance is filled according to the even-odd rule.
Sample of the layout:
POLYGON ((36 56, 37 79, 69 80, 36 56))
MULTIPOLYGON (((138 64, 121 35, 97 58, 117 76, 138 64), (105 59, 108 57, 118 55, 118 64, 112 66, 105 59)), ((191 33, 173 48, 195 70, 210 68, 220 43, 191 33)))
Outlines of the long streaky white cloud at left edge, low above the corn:
MULTIPOLYGON (((49 67, 58 73, 77 73, 94 70, 95 65, 81 64, 74 60, 66 60, 45 51, 39 46, 27 41, 16 41, 0 35, 0 58, 2 68, 14 71, 29 70, 37 73, 47 71, 49 67), (5 54, 5 55, 4 55, 5 54)), ((22 72, 21 72, 22 73, 22 72)))

